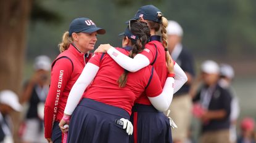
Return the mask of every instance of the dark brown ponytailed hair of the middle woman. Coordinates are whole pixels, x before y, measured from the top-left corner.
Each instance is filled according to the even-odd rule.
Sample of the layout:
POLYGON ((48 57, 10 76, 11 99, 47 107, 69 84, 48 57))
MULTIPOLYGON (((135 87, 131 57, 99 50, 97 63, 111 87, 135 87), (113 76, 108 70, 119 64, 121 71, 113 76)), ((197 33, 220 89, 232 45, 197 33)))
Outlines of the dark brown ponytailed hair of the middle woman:
MULTIPOLYGON (((139 21, 133 21, 131 23, 131 29, 130 32, 133 33, 135 36, 138 36, 138 39, 136 41, 131 40, 132 50, 130 51, 129 57, 134 58, 134 56, 137 53, 142 52, 144 50, 144 46, 147 44, 147 42, 150 39, 150 30, 147 26, 147 23, 139 22, 139 21)), ((127 75, 128 71, 125 70, 122 75, 120 75, 117 82, 119 83, 119 87, 125 87, 127 82, 127 75)))

